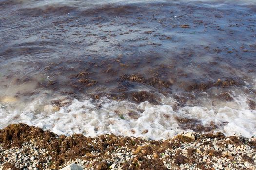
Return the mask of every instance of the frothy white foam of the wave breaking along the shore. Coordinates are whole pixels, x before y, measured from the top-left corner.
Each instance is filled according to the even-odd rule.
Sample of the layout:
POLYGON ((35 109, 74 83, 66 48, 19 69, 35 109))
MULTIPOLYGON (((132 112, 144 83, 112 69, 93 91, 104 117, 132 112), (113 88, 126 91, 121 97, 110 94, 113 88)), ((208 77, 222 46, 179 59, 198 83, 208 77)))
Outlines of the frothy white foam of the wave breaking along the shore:
POLYGON ((178 111, 172 108, 175 101, 166 97, 162 99, 163 105, 149 102, 135 104, 106 97, 98 102, 73 99, 70 105, 58 111, 54 111, 54 106, 43 106, 42 101, 31 102, 20 111, 11 110, 10 105, 1 105, 0 128, 12 123, 26 123, 58 135, 82 133, 96 137, 113 133, 158 140, 184 132, 175 117, 187 117, 198 119, 203 125, 214 122, 219 125, 215 131, 222 131, 229 136, 237 134, 252 137, 256 136, 256 111, 249 109, 246 99, 246 95, 239 95, 230 105, 186 106, 178 111))

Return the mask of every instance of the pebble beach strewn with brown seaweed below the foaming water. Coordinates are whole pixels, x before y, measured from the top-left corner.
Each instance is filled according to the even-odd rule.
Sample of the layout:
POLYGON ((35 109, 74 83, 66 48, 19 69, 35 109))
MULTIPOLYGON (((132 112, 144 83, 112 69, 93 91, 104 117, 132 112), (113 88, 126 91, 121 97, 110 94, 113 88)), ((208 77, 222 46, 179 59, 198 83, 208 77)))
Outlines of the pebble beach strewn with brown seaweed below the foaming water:
POLYGON ((255 170, 256 140, 220 132, 161 141, 57 136, 26 124, 0 130, 0 170, 53 170, 71 163, 86 170, 255 170))

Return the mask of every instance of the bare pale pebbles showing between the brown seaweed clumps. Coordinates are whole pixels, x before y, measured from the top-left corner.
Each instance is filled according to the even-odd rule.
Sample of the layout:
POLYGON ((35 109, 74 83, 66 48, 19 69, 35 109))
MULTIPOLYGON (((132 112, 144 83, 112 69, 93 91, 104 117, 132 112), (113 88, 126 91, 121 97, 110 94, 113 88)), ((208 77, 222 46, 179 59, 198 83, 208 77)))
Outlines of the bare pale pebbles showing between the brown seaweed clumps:
MULTIPOLYGON (((189 134, 191 135, 191 134, 189 134)), ((192 136, 192 135, 191 135, 192 136)), ((135 139, 135 138, 134 138, 135 139)), ((248 139, 244 139, 245 141, 248 139)), ((141 146, 151 145, 150 141, 145 140, 141 143, 141 146)), ((246 169, 255 169, 256 162, 250 163, 245 162, 243 160, 244 155, 249 156, 252 160, 256 160, 256 150, 252 149, 251 146, 248 146, 245 142, 242 145, 230 144, 230 140, 226 138, 204 138, 202 140, 195 140, 191 143, 179 143, 180 147, 175 148, 166 148, 161 153, 153 153, 147 154, 143 159, 148 159, 150 161, 154 161, 154 159, 158 159, 158 161, 162 161, 164 166, 167 169, 175 169, 175 157, 177 152, 180 151, 179 154, 182 154, 185 157, 189 158, 188 149, 194 148, 195 152, 193 159, 196 159, 194 164, 180 164, 179 168, 181 170, 199 170, 197 168, 197 163, 202 162, 206 169, 215 169, 215 170, 246 170, 246 169), (205 141, 210 142, 206 145, 203 145, 205 141), (211 144, 212 143, 212 144, 211 144), (222 145, 219 145, 222 143, 222 145), (215 155, 215 153, 207 153, 208 150, 214 150, 220 152, 219 155, 215 155), (238 151, 239 150, 239 151, 238 151), (232 157, 231 157, 232 156, 232 157)), ((76 159, 74 161, 68 160, 60 168, 64 168, 69 164, 77 163, 79 166, 82 166, 84 169, 93 170, 93 163, 101 160, 105 160, 109 165, 111 165, 112 169, 122 169, 122 165, 124 163, 132 164, 137 155, 133 154, 134 149, 125 146, 118 146, 111 151, 107 151, 104 155, 107 157, 100 157, 99 150, 92 150, 91 155, 94 155, 93 158, 85 160, 84 158, 76 159)), ((50 155, 51 152, 46 149, 37 149, 36 144, 29 142, 24 143, 21 148, 10 148, 4 149, 0 144, 0 157, 4 157, 2 162, 0 162, 0 167, 6 163, 12 163, 17 168, 24 170, 39 170, 37 165, 40 162, 39 155, 44 155, 46 157, 46 161, 42 164, 42 169, 50 170, 48 167, 51 167, 51 160, 53 159, 50 155), (36 161, 35 161, 36 160, 36 161)), ((88 153, 86 153, 88 154, 88 153)), ((103 156, 104 156, 103 155, 103 156)), ((136 158, 137 159, 137 158, 136 158)), ((139 162, 143 164, 143 162, 139 162)), ((139 165, 139 164, 138 164, 139 165)))

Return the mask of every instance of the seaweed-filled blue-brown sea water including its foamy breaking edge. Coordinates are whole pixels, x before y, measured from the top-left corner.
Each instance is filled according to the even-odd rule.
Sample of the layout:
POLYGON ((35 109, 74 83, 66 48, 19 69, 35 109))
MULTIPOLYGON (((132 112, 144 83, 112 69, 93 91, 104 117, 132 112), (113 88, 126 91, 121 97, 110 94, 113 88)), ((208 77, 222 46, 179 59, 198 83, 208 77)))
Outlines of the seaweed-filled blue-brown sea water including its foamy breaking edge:
POLYGON ((256 136, 255 0, 0 0, 0 128, 256 136))

